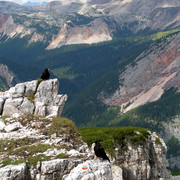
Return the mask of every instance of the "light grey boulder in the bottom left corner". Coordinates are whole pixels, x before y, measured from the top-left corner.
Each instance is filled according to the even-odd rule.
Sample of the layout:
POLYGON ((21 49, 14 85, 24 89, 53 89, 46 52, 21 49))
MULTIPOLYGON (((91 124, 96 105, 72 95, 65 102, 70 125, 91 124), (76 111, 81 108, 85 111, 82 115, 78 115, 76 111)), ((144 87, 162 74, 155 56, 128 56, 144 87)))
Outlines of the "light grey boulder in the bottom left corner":
POLYGON ((26 164, 8 165, 0 168, 1 180, 24 180, 26 174, 26 164))

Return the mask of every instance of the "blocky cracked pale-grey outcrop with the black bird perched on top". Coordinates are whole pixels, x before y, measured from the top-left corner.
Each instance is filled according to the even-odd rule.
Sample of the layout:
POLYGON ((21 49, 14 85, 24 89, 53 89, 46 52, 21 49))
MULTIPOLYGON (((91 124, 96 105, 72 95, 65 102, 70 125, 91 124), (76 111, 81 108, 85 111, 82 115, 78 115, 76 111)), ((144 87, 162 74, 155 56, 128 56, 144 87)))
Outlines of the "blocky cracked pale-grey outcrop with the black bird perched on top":
POLYGON ((58 79, 19 83, 0 93, 0 113, 11 117, 23 114, 59 117, 67 95, 58 95, 58 90, 58 79))

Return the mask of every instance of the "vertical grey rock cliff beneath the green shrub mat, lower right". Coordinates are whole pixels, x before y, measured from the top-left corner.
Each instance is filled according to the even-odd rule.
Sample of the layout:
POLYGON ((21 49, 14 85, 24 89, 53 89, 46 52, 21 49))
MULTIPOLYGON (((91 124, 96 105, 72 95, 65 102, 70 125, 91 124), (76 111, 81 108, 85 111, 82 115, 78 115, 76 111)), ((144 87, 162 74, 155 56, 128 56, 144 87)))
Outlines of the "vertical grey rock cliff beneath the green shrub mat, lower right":
POLYGON ((149 135, 144 146, 134 148, 129 144, 127 151, 122 152, 119 149, 120 147, 115 150, 115 159, 123 170, 123 179, 172 178, 166 159, 167 147, 156 133, 149 135))

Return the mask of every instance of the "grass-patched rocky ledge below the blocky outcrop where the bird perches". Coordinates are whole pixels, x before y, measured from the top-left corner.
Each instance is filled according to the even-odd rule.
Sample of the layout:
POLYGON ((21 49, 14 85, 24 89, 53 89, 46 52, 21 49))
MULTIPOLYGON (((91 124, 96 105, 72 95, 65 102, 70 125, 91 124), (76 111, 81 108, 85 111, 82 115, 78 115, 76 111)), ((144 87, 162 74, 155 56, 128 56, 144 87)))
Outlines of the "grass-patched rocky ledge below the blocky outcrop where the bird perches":
POLYGON ((0 179, 56 179, 91 158, 70 124, 37 115, 0 118, 0 179))

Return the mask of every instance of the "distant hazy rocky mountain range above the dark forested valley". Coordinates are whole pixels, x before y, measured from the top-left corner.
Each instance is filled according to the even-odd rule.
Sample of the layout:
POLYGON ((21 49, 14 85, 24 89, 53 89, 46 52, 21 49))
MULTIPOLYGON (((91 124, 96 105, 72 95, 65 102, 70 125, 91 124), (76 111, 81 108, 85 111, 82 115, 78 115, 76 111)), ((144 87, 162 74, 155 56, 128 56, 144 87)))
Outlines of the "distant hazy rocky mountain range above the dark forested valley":
POLYGON ((42 6, 0 2, 1 39, 30 35, 47 49, 112 40, 122 31, 167 30, 180 25, 180 3, 173 1, 52 1, 42 6))

